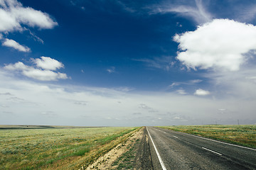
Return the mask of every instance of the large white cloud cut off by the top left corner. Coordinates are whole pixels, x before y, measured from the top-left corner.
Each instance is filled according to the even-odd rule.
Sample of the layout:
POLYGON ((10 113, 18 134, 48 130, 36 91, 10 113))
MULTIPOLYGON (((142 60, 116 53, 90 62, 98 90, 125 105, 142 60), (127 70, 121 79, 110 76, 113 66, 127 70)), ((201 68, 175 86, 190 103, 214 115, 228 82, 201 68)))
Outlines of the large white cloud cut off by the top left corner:
POLYGON ((38 28, 53 28, 58 25, 48 13, 23 7, 16 0, 1 0, 0 7, 0 32, 23 30, 22 25, 38 28))

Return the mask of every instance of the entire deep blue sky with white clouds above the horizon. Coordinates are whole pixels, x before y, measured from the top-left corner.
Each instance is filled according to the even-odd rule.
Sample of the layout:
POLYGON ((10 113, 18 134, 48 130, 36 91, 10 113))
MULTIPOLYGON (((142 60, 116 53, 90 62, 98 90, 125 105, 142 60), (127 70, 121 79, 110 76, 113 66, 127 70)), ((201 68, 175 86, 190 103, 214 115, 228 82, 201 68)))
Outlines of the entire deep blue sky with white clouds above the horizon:
POLYGON ((256 124, 254 0, 0 0, 0 124, 256 124))

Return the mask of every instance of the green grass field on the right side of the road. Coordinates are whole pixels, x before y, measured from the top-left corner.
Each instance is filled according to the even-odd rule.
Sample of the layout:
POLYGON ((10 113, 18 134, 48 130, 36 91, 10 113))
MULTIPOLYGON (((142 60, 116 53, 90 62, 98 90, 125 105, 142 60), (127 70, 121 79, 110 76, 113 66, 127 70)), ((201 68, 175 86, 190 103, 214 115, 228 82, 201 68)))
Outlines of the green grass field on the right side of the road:
POLYGON ((236 145, 256 148, 256 125, 180 125, 159 128, 186 132, 236 145))

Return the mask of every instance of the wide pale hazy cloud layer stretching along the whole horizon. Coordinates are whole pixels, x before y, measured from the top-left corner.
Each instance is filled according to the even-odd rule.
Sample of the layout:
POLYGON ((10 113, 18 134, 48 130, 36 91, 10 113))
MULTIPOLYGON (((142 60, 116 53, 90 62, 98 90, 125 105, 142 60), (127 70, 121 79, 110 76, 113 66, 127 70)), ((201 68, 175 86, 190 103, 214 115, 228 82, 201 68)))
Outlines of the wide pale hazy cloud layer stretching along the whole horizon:
MULTIPOLYGON (((2 69, 0 81, 4 82, 0 84, 1 93, 23 98, 22 101, 14 101, 9 100, 8 95, 0 95, 0 124, 201 125, 202 122, 213 124, 219 118, 224 124, 237 123, 238 119, 241 123, 250 124, 248 119, 254 119, 255 123, 256 118, 256 98, 198 98, 176 92, 124 92, 107 88, 57 85, 19 79, 2 69), (219 108, 225 108, 228 112, 217 114, 219 108), (42 115, 48 111, 55 113, 55 116, 48 118, 42 115), (11 112, 13 115, 3 115, 1 112, 11 112), (141 114, 134 116, 133 113, 141 114), (162 119, 158 120, 159 117, 162 119)), ((254 89, 255 86, 256 84, 254 89)))

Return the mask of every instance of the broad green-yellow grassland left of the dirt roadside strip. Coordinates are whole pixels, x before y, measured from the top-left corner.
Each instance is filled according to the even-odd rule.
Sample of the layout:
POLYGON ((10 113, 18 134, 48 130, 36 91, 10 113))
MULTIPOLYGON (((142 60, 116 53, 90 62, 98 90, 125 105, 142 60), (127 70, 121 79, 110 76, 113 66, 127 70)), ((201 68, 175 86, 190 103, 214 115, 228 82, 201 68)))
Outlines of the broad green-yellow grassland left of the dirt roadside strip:
POLYGON ((0 169, 79 169, 137 128, 0 130, 0 169))

